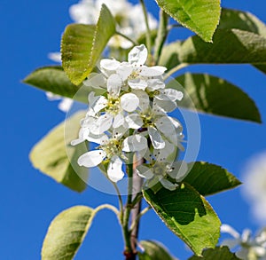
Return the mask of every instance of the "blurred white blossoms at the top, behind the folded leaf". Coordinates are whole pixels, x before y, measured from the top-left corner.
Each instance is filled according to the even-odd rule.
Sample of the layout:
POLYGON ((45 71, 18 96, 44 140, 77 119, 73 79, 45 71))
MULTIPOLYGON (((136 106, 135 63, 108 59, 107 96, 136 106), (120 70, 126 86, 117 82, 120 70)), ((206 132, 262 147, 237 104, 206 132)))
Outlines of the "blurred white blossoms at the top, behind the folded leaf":
MULTIPOLYGON (((144 15, 136 15, 136 13, 143 12, 141 5, 130 4, 126 0, 81 0, 78 4, 70 6, 69 13, 74 22, 95 24, 102 4, 106 4, 110 12, 112 12, 119 32, 133 40, 137 40, 137 37, 145 33, 144 15)), ((148 13, 148 22, 151 29, 157 27, 157 20, 153 18, 151 13, 148 13)), ((129 49, 132 46, 131 42, 120 35, 114 35, 108 44, 109 46, 123 49, 129 49)))

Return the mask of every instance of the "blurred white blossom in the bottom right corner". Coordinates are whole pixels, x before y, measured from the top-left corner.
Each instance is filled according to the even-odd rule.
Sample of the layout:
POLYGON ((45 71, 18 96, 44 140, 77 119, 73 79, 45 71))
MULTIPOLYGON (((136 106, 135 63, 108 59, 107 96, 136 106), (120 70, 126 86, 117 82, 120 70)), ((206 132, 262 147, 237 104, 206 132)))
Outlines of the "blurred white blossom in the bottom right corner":
POLYGON ((245 229, 239 234, 230 225, 222 225, 221 232, 231 234, 233 239, 223 240, 222 245, 236 248, 236 255, 243 260, 266 259, 266 230, 258 232, 254 238, 251 231, 245 229))

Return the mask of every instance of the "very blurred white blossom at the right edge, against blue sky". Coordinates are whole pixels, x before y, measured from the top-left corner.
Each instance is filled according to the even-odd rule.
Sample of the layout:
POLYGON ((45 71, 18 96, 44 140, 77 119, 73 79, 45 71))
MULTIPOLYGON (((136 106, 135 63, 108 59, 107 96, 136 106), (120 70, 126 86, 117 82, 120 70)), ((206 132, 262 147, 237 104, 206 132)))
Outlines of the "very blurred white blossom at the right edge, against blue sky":
POLYGON ((266 221, 266 153, 257 154, 246 163, 241 192, 251 204, 254 217, 266 221))

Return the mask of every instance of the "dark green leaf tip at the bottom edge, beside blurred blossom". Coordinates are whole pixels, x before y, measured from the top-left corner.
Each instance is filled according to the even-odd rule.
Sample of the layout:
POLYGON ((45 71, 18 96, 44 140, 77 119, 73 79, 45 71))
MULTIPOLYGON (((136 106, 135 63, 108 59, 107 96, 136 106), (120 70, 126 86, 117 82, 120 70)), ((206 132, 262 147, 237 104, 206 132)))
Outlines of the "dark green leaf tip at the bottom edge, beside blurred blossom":
POLYGON ((204 250, 202 255, 203 257, 192 256, 189 258, 189 260, 240 260, 240 258, 231 253, 231 251, 227 247, 216 247, 214 249, 209 248, 207 250, 204 250))

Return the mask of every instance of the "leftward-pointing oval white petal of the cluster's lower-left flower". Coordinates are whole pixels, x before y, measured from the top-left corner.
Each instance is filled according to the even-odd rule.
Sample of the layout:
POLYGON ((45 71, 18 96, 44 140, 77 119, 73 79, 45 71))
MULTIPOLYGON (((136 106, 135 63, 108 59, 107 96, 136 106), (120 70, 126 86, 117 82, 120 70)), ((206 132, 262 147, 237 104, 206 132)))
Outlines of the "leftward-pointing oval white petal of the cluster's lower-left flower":
POLYGON ((106 157, 106 152, 103 150, 94 150, 90 151, 88 153, 82 154, 82 156, 79 157, 78 159, 78 164, 80 166, 85 166, 85 167, 95 167, 101 162, 106 157))

